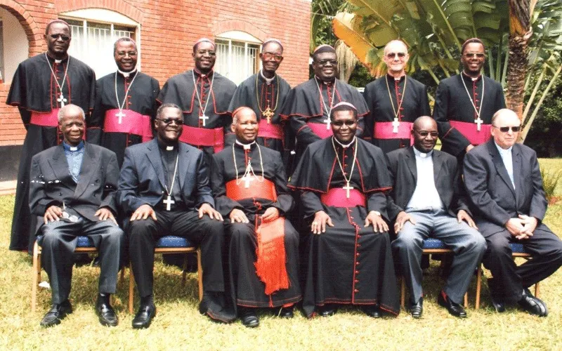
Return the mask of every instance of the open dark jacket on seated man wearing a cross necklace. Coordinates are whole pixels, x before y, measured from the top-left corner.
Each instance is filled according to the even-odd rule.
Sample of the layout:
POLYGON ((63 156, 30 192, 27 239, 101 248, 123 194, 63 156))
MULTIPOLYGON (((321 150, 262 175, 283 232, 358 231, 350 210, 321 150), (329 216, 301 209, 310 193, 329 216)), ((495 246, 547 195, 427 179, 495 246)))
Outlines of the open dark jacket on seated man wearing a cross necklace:
MULTIPOLYGON (((178 174, 182 200, 188 208, 207 202, 214 206, 209 186, 209 166, 203 152, 179 143, 178 174)), ((155 139, 125 149, 117 199, 126 214, 144 204, 156 206, 164 199, 164 167, 155 139)))

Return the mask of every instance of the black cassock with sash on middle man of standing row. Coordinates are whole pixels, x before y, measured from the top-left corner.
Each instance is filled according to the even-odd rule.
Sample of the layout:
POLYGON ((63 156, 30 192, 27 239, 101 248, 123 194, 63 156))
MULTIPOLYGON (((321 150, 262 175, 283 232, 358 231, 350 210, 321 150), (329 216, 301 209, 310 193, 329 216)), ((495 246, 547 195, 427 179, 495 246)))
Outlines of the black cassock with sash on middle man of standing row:
POLYGON ((234 110, 242 106, 254 110, 259 123, 256 142, 259 145, 277 150, 283 155, 287 150, 285 137, 290 138, 290 133, 286 133, 285 121, 282 120, 279 111, 287 100, 287 94, 290 90, 291 86, 285 79, 279 77, 279 74, 275 74, 275 77, 268 83, 261 72, 258 72, 242 81, 236 88, 233 100, 230 100, 228 112, 232 114, 234 110), (263 114, 263 112, 268 113, 268 109, 273 112, 273 116, 269 119, 263 114))

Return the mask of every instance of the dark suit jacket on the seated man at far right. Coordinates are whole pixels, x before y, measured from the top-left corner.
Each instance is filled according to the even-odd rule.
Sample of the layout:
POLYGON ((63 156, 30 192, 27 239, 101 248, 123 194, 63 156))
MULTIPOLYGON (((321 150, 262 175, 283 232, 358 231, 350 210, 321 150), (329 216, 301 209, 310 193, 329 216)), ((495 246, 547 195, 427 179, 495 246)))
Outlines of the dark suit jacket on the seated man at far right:
POLYGON ((477 208, 476 224, 484 237, 504 230, 509 218, 522 214, 541 223, 547 212, 537 154, 530 147, 515 144, 511 157, 515 189, 493 139, 464 157, 464 183, 477 208))

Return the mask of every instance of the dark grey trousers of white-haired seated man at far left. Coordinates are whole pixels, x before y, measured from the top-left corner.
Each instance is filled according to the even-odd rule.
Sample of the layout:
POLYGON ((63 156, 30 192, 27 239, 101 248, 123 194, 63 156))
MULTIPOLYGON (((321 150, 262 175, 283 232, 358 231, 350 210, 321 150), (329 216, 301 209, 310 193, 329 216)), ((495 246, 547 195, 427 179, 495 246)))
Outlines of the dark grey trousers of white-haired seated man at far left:
POLYGON ((78 236, 87 236, 96 246, 100 257, 100 293, 115 293, 122 249, 123 231, 110 220, 92 222, 79 218, 77 222, 58 220, 39 229, 42 265, 51 282, 53 303, 63 303, 70 295, 74 249, 78 236))

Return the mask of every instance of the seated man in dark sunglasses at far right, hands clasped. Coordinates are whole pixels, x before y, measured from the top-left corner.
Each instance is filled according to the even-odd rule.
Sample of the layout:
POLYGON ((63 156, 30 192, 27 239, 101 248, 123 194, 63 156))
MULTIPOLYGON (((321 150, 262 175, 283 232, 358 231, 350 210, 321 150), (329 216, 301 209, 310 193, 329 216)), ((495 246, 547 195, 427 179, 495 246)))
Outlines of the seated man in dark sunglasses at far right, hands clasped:
POLYGON ((562 241, 542 223, 548 201, 542 189, 537 154, 516 143, 521 130, 515 112, 497 111, 492 117, 492 139, 464 157, 464 183, 475 207, 476 224, 488 243, 483 263, 492 303, 498 312, 516 304, 544 317, 547 306, 528 287, 562 265, 562 241), (523 244, 532 260, 517 266, 510 243, 523 244))

